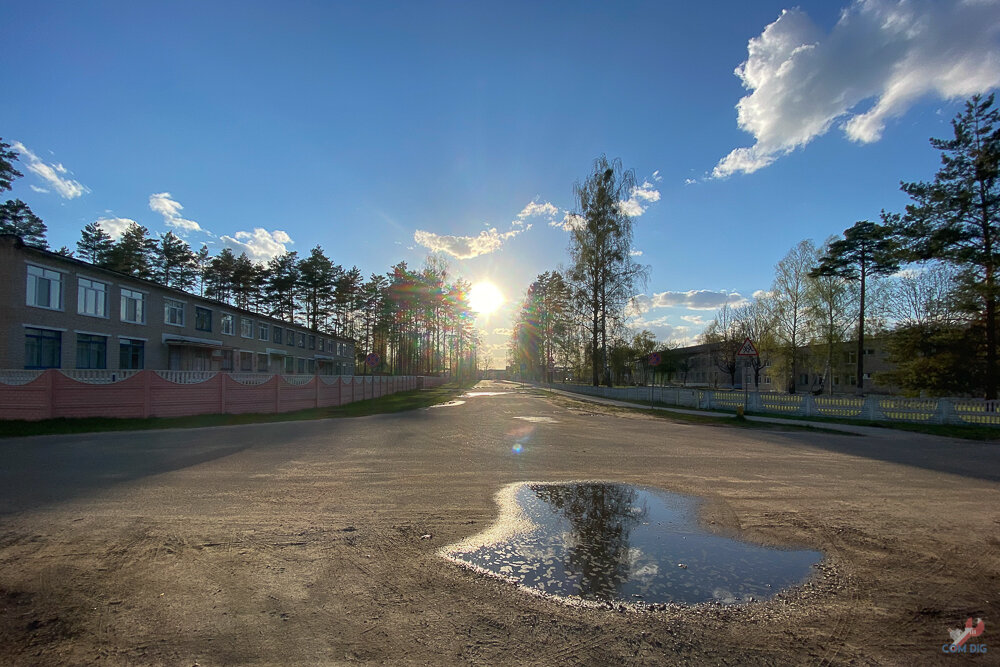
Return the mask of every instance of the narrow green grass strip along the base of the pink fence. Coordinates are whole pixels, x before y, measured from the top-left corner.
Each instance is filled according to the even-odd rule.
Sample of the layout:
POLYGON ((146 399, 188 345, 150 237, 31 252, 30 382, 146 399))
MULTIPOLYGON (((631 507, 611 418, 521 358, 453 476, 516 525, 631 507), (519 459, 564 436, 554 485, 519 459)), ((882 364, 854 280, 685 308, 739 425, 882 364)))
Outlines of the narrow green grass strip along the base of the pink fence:
POLYGON ((266 424, 271 422, 305 421, 311 419, 336 419, 342 417, 367 417, 388 412, 403 412, 426 408, 447 401, 465 391, 469 385, 443 385, 390 394, 381 398, 329 408, 311 408, 298 412, 279 414, 245 415, 195 415, 193 417, 150 417, 148 419, 110 419, 83 417, 79 419, 46 419, 42 421, 0 421, 0 438, 28 435, 56 435, 67 433, 98 433, 102 431, 146 431, 164 428, 202 428, 206 426, 234 426, 238 424, 266 424))

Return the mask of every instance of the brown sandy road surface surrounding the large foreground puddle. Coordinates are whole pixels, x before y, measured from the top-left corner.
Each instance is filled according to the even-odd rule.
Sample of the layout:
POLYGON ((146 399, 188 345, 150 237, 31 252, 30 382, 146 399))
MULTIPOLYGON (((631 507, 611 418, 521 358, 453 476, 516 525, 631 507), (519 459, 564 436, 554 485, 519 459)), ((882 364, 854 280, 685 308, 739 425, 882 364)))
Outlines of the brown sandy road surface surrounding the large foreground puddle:
POLYGON ((0 662, 997 664, 1000 445, 693 426, 481 389, 508 393, 0 441, 0 662), (698 495, 712 530, 827 558, 769 601, 633 611, 437 555, 489 527, 505 484, 571 479, 698 495), (992 650, 943 654, 970 616, 992 650))

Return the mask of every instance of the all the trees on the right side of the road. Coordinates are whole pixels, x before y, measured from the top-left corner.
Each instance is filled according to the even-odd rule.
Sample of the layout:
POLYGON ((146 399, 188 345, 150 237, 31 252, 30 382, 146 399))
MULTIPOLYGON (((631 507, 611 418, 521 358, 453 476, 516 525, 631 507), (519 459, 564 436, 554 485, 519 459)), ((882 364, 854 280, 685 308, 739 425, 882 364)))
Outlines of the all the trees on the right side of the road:
MULTIPOLYGON (((882 211, 817 246, 798 243, 775 266, 769 290, 723 306, 702 335, 715 366, 736 384, 737 355, 750 338, 753 382, 766 372, 794 392, 833 391, 842 344, 855 343, 853 380, 865 389, 866 336, 887 341, 895 370, 884 378, 907 393, 997 397, 997 243, 1000 238, 1000 112, 974 96, 952 121, 954 136, 931 139, 941 166, 933 180, 901 183, 911 203, 882 211), (798 383, 800 384, 800 383, 798 383)), ((632 221, 619 202, 634 177, 599 158, 577 184, 570 266, 539 275, 515 316, 511 366, 553 380, 559 368, 590 381, 627 381, 659 350, 657 370, 686 376, 684 358, 648 331, 627 326, 645 279, 631 261, 632 221)), ((845 383, 850 383, 845 377, 845 383)))

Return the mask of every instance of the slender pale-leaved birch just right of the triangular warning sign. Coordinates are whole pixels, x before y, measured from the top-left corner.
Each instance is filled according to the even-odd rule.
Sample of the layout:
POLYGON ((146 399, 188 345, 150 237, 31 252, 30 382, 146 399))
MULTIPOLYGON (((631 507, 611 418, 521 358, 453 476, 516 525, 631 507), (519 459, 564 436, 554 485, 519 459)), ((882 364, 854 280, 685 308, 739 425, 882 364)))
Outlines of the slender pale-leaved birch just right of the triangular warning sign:
POLYGON ((775 336, 782 348, 788 391, 795 393, 799 350, 808 341, 806 310, 809 295, 809 271, 816 263, 812 241, 799 242, 774 267, 771 297, 775 318, 775 336))

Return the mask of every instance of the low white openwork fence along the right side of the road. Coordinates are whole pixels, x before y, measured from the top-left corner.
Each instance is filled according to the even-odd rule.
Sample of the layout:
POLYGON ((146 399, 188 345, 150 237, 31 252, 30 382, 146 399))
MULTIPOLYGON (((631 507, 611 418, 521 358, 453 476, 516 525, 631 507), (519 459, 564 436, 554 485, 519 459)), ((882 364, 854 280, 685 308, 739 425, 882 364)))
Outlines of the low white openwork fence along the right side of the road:
POLYGON ((718 391, 683 387, 592 387, 557 384, 579 394, 620 401, 656 403, 700 410, 735 412, 746 402, 747 412, 796 417, 841 417, 923 424, 1000 426, 1000 401, 974 398, 902 398, 898 396, 813 396, 777 392, 718 391))

